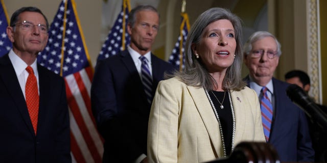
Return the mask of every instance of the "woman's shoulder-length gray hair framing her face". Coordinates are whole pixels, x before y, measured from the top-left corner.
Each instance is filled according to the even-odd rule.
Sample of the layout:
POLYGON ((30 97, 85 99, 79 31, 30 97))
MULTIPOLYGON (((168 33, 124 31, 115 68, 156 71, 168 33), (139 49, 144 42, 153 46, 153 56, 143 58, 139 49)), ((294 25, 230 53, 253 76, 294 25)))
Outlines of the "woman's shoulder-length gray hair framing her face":
MULTIPOLYGON (((203 31, 207 25, 221 19, 227 19, 231 22, 235 30, 235 39, 237 43, 234 62, 227 68, 225 78, 223 79, 223 83, 227 83, 228 86, 223 89, 226 90, 228 88, 230 90, 239 91, 245 87, 246 84, 243 82, 241 77, 243 62, 241 20, 229 10, 218 7, 203 12, 194 22, 188 34, 185 46, 185 69, 183 72, 175 71, 174 73, 174 75, 180 77, 181 81, 186 85, 205 87, 208 90, 214 90, 214 88, 217 88, 216 80, 208 73, 202 61, 196 59, 191 46, 192 43, 200 43, 203 31)), ((167 77, 171 76, 167 75, 167 77)))

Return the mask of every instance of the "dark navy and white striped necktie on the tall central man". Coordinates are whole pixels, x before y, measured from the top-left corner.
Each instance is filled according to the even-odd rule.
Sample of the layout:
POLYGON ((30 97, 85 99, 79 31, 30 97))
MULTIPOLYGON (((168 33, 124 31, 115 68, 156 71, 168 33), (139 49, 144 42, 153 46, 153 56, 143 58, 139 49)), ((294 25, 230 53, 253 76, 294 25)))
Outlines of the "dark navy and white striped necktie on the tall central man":
POLYGON ((144 86, 144 91, 147 96, 147 101, 151 104, 152 102, 152 76, 148 65, 148 60, 144 56, 138 58, 141 60, 141 78, 144 86))

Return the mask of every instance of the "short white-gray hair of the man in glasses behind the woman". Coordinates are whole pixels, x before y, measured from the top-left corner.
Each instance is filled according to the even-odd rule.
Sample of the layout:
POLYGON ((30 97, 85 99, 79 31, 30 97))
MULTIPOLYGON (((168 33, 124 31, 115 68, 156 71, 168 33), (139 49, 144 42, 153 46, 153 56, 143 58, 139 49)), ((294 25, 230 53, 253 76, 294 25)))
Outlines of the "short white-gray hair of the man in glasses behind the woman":
POLYGON ((267 32, 267 31, 258 31, 253 33, 248 40, 245 42, 245 44, 243 45, 243 51, 245 55, 248 55, 252 49, 252 43, 254 43, 255 41, 261 40, 265 37, 272 37, 275 41, 276 41, 276 45, 277 45, 277 56, 281 56, 282 55, 282 50, 281 50, 281 43, 278 42, 277 38, 267 32))

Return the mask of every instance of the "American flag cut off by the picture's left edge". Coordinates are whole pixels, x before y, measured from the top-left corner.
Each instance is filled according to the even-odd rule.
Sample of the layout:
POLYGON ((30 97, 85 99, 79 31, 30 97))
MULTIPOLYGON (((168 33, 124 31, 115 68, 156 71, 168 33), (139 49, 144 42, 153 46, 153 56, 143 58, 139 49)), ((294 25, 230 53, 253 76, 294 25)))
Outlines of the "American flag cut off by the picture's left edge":
POLYGON ((9 50, 12 48, 12 43, 7 37, 7 29, 8 26, 8 15, 7 10, 4 4, 4 1, 1 0, 0 7, 0 57, 6 55, 9 50))

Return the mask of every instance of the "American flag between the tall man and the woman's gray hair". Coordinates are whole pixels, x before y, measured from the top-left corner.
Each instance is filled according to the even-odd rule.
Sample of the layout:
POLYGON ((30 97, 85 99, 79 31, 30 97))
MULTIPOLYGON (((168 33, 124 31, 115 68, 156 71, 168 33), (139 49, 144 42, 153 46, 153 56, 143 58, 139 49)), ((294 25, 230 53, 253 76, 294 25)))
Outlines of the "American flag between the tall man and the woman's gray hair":
POLYGON ((186 13, 181 13, 182 21, 180 24, 180 32, 178 40, 175 44, 175 47, 172 51, 171 56, 169 57, 169 63, 176 66, 180 71, 184 68, 185 63, 185 42, 188 37, 190 30, 189 16, 186 13))

